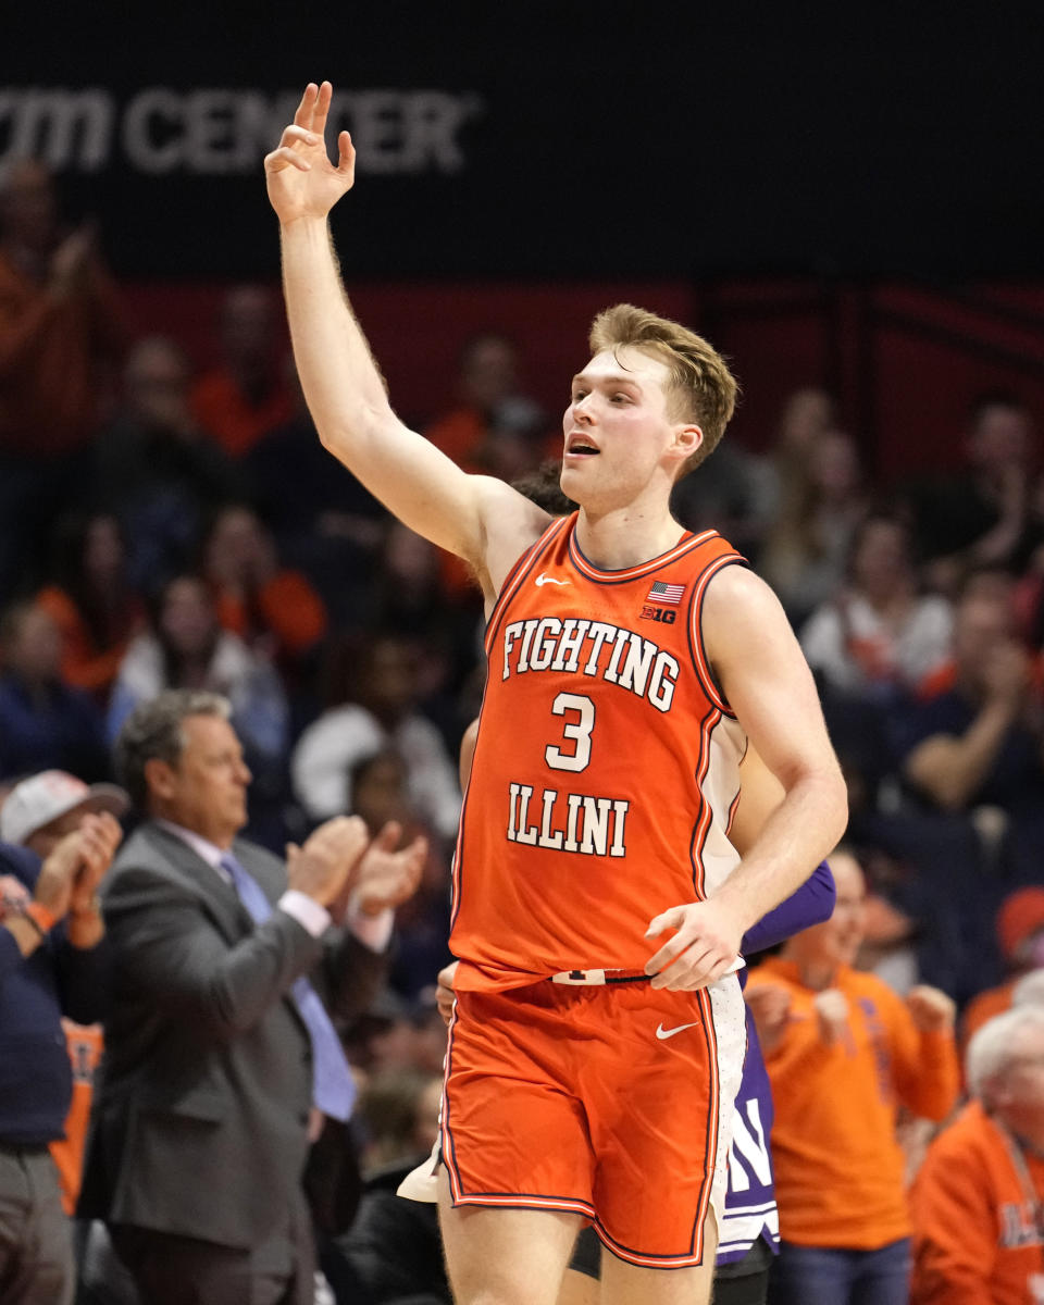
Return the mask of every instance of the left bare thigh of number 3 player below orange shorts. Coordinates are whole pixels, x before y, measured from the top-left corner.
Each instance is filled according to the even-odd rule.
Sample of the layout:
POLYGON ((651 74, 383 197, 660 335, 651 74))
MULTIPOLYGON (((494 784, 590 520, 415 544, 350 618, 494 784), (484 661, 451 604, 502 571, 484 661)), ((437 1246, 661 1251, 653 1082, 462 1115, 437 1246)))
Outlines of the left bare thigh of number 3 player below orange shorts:
POLYGON ((582 1219, 557 1210, 454 1206, 442 1167, 438 1223, 455 1305, 556 1305, 582 1219))

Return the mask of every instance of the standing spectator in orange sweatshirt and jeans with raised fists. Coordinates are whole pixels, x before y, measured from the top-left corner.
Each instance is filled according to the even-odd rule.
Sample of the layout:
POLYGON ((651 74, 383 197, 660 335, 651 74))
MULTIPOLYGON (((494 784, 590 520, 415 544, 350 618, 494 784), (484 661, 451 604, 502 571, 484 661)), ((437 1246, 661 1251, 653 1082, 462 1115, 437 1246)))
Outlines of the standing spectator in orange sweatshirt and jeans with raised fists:
POLYGON ((775 1100, 782 1242, 769 1301, 906 1305, 911 1223, 897 1116, 900 1104, 930 1120, 953 1108, 954 1004, 928 987, 903 1002, 852 968, 863 872, 844 851, 829 864, 831 919, 791 938, 748 984, 775 1100))

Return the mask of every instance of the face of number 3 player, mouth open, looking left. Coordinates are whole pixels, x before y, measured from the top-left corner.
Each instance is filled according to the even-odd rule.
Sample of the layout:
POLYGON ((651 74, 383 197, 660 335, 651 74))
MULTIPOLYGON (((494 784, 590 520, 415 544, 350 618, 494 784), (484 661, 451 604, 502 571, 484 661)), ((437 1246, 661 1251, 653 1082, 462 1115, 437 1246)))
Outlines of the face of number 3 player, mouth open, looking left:
POLYGON ((637 348, 604 350, 573 377, 562 418, 562 491, 590 505, 634 497, 666 468, 671 480, 688 450, 675 449, 669 371, 637 348))

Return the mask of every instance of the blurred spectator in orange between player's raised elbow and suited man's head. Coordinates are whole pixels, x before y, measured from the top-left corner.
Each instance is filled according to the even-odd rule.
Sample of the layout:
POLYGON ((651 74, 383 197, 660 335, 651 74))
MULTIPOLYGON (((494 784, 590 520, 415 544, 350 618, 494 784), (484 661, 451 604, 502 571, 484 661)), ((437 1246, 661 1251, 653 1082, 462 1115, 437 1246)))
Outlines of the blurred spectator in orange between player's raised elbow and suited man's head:
POLYGON ((295 679, 326 633, 326 608, 305 576, 279 565, 253 508, 218 510, 204 540, 204 576, 222 626, 295 679))

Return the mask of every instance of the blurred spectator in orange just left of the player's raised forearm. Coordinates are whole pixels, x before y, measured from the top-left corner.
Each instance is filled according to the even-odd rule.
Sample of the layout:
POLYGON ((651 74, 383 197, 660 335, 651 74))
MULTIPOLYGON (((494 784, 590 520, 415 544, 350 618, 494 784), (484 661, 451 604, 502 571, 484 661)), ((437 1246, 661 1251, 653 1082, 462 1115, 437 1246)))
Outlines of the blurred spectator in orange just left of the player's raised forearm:
POLYGON ((230 458, 241 458, 294 412, 279 359, 275 304, 264 286, 236 286, 221 307, 221 363, 196 382, 192 410, 230 458))

